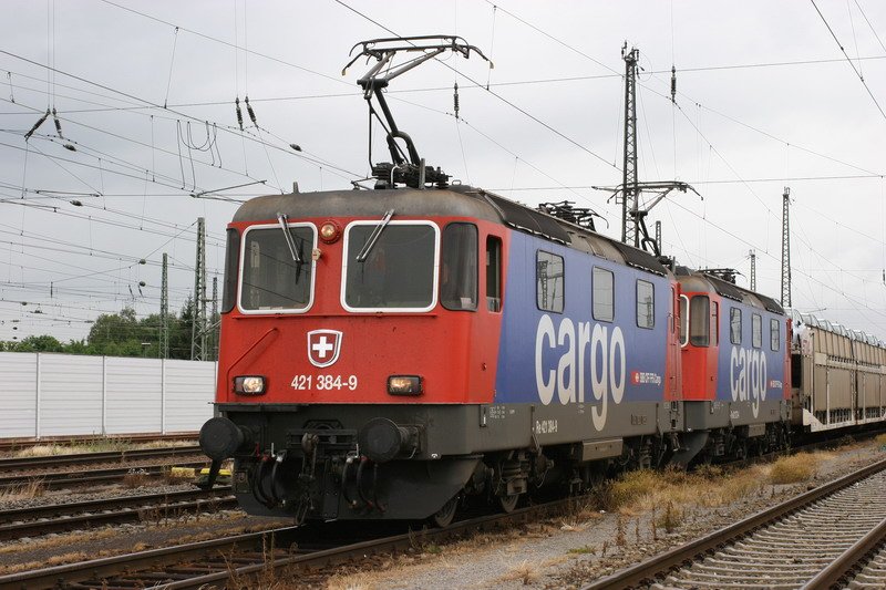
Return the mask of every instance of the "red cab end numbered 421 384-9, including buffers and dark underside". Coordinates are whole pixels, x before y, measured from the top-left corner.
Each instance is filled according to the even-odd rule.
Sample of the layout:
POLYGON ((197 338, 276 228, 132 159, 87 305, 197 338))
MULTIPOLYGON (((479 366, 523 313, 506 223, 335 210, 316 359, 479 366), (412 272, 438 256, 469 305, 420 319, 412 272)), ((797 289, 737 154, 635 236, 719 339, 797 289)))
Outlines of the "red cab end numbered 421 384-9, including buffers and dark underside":
POLYGON ((480 462, 465 424, 471 404, 491 401, 497 366, 507 237, 495 217, 452 190, 280 195, 239 209, 220 417, 202 444, 235 457, 247 511, 425 518, 465 486, 480 462))

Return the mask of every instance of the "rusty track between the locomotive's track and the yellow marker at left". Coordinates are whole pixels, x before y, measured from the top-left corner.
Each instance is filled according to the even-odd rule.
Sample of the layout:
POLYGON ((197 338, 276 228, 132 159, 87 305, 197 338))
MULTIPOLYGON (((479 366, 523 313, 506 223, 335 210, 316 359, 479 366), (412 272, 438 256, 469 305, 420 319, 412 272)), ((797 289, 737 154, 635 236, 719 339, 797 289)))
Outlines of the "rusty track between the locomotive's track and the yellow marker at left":
POLYGON ((236 507, 230 487, 225 486, 17 508, 0 511, 0 541, 236 507))

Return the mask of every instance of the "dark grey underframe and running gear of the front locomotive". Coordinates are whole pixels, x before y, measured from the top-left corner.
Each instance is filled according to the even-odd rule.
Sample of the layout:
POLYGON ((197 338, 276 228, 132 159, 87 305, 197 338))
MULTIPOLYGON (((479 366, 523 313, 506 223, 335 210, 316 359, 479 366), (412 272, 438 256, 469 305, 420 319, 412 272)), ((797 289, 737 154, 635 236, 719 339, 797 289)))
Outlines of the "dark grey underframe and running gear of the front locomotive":
POLYGON ((679 402, 612 405, 599 433, 594 407, 218 405, 247 433, 234 456, 243 508, 297 520, 423 519, 462 494, 507 506, 543 486, 577 490, 612 470, 660 465, 681 445, 679 402), (391 460, 372 460, 358 445, 378 416, 406 433, 391 460))

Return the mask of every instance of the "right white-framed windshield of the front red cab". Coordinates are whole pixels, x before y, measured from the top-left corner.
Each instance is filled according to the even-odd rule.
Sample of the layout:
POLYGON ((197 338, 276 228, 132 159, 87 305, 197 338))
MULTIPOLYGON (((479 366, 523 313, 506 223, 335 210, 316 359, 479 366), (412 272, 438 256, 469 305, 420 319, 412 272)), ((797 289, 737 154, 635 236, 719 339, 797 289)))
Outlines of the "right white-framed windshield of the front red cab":
POLYGON ((358 262, 358 255, 377 226, 377 221, 358 221, 348 228, 346 309, 430 310, 435 303, 436 227, 390 221, 365 260, 358 262))

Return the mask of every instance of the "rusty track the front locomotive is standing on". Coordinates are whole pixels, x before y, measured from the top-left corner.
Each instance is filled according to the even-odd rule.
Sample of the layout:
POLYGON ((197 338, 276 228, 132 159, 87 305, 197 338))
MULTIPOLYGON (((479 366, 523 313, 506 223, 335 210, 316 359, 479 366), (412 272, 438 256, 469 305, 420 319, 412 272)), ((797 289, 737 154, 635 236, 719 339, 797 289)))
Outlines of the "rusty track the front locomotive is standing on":
POLYGON ((461 520, 445 529, 410 531, 389 525, 388 534, 377 532, 375 536, 367 532, 364 524, 326 525, 322 535, 315 527, 286 527, 0 576, 0 589, 208 589, 223 588, 230 579, 239 580, 239 586, 244 586, 243 580, 254 579, 251 577, 255 576, 274 576, 274 572, 282 570, 313 570, 371 555, 409 550, 426 542, 514 526, 563 511, 574 503, 574 499, 556 500, 511 514, 461 520), (391 528, 394 528, 394 534, 391 534, 391 528))

